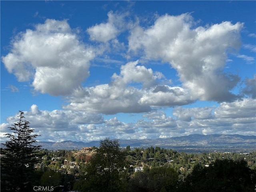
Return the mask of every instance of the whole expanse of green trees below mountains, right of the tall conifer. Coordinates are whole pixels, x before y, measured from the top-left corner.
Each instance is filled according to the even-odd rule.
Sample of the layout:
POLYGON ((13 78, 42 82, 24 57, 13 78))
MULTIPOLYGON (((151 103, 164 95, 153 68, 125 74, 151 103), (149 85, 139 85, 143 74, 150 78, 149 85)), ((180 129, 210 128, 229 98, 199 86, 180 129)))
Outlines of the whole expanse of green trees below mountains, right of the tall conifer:
MULTIPOLYGON (((145 150, 131 149, 127 146, 122 150, 117 140, 107 138, 101 142, 99 148, 94 148, 89 154, 59 150, 44 151, 41 155, 46 158, 42 161, 52 161, 52 157, 56 159, 55 165, 49 164, 44 172, 50 169, 61 173, 61 185, 66 189, 80 192, 215 192, 217 190, 229 192, 233 190, 226 185, 232 185, 241 192, 250 192, 250 186, 253 188, 251 184, 256 183, 256 152, 187 154, 153 146, 145 150), (63 164, 64 159, 68 158, 78 162, 79 169, 60 168, 60 163, 63 164), (225 164, 225 161, 230 162, 225 164), (232 161, 236 166, 233 166, 232 161), (241 165, 240 162, 245 163, 241 165), (124 166, 126 169, 123 169, 124 166), (134 172, 137 166, 143 166, 143 172, 134 172), (244 169, 244 167, 250 168, 244 169), (235 175, 240 172, 242 177, 236 177, 235 175), (232 183, 230 180, 236 182, 232 183)), ((38 176, 36 177, 40 178, 38 176)))

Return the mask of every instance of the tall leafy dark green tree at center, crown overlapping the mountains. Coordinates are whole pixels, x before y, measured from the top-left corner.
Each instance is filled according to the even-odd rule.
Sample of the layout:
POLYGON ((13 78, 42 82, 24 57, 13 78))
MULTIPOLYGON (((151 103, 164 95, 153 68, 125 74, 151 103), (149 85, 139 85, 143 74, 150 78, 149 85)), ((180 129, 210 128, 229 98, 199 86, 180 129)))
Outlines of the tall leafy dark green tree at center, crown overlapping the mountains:
POLYGON ((100 147, 85 166, 85 181, 80 181, 79 190, 85 191, 121 191, 125 186, 124 152, 120 150, 118 140, 106 138, 100 141, 100 147))

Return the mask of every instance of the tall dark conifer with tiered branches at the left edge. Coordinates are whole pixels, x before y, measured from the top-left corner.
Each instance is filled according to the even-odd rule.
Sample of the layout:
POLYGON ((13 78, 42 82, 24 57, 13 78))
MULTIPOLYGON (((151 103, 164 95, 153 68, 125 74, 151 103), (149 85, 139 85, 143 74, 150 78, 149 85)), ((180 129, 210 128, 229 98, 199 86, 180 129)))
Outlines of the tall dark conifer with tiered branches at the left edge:
POLYGON ((10 192, 33 191, 33 171, 38 162, 36 151, 40 146, 36 143, 36 134, 30 129, 29 122, 24 120, 24 112, 19 111, 19 121, 9 129, 12 134, 6 134, 9 138, 4 144, 1 157, 1 190, 10 192))

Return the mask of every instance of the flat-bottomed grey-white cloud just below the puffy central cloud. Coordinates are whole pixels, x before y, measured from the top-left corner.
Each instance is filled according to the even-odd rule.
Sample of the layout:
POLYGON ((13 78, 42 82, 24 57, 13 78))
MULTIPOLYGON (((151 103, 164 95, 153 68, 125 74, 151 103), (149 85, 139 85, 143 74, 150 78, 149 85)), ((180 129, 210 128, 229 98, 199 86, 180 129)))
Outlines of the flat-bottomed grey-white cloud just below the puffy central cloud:
POLYGON ((140 106, 138 104, 143 92, 133 87, 124 88, 113 84, 102 84, 80 89, 78 92, 80 93, 77 94, 81 95, 81 97, 70 98, 70 104, 65 108, 104 114, 150 111, 149 106, 140 106))

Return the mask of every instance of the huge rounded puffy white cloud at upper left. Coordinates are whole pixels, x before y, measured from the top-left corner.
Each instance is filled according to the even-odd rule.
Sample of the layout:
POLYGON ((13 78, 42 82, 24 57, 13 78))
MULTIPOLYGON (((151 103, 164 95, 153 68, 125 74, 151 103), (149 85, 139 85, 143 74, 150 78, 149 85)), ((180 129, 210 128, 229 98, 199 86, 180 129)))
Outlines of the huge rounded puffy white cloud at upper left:
POLYGON ((67 20, 47 19, 34 30, 21 32, 11 42, 11 50, 2 57, 8 72, 19 81, 33 80, 41 93, 70 94, 89 76, 92 48, 80 42, 67 20))

